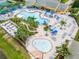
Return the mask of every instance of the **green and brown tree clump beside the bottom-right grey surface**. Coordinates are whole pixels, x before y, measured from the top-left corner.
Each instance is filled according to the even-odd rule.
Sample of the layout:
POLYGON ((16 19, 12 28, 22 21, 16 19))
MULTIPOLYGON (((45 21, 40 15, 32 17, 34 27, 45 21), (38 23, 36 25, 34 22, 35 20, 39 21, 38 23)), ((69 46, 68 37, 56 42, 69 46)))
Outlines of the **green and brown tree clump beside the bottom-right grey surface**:
POLYGON ((68 49, 68 40, 61 47, 57 47, 57 56, 55 59, 64 59, 66 56, 70 55, 68 49))

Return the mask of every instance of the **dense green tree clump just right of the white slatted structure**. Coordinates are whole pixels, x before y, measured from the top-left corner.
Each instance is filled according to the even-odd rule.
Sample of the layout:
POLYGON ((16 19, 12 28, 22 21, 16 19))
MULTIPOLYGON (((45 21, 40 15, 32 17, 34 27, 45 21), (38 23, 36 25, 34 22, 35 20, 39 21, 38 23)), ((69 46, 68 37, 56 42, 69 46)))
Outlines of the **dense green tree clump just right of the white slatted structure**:
POLYGON ((33 32, 29 32, 25 25, 20 25, 18 27, 17 32, 15 33, 15 37, 17 39, 21 39, 23 42, 26 40, 27 37, 33 35, 33 32))

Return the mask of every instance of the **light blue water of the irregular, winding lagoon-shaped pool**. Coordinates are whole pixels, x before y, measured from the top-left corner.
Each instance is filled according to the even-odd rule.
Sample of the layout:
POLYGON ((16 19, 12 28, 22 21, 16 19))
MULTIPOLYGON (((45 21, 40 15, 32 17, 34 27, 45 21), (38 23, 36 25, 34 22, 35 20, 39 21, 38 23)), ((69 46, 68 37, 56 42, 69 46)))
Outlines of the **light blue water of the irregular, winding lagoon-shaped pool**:
POLYGON ((26 11, 23 11, 21 13, 18 14, 18 16, 22 16, 23 19, 26 19, 30 16, 30 17, 35 17, 36 20, 39 25, 43 25, 44 23, 48 23, 48 20, 45 19, 45 18, 41 18, 40 15, 39 15, 39 12, 35 12, 35 13, 31 13, 31 12, 26 12, 26 11))

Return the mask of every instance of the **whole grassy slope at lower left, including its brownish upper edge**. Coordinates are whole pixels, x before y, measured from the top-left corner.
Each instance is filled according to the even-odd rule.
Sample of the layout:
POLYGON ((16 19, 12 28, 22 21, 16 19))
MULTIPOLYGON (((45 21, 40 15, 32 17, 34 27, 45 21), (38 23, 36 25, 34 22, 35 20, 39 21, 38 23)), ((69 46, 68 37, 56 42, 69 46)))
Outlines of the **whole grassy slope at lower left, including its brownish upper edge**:
POLYGON ((25 55, 20 50, 17 51, 10 43, 3 38, 3 34, 0 33, 0 48, 4 52, 8 59, 30 59, 28 53, 25 55))

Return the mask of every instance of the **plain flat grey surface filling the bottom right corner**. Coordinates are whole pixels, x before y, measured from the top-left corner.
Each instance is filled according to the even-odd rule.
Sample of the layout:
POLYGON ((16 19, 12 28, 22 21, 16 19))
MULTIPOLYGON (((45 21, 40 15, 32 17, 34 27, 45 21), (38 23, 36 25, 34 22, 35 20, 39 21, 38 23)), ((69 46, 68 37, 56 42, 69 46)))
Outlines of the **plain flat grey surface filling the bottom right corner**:
POLYGON ((79 42, 73 41, 70 47, 71 55, 65 59, 79 59, 79 42))

